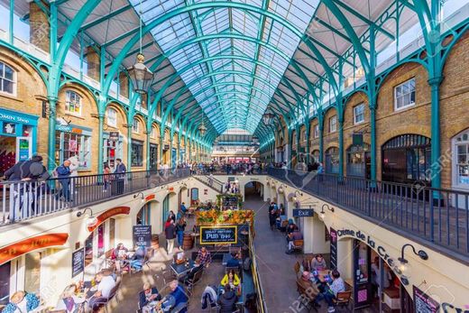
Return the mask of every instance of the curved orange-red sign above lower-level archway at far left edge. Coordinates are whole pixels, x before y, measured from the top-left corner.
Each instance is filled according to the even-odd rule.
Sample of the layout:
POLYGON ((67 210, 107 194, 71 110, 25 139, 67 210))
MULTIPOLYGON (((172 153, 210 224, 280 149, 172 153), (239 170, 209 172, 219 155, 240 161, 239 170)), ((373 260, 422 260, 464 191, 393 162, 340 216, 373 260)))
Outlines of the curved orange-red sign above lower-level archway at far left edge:
POLYGON ((34 250, 51 246, 63 245, 69 239, 69 234, 57 233, 48 235, 38 235, 24 239, 16 244, 10 244, 0 249, 0 264, 13 260, 14 258, 30 253, 34 250))

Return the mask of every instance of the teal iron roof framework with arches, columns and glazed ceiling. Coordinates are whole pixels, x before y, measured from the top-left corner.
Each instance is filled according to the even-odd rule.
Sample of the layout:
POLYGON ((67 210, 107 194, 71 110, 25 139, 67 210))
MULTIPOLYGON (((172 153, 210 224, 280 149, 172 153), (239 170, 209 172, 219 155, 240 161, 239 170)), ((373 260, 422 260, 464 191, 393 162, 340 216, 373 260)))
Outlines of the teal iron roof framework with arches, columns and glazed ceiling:
MULTIPOLYGON (((10 7, 11 16, 13 12, 27 14, 18 1, 2 2, 10 7)), ((184 135, 189 145, 209 150, 218 135, 241 128, 258 136, 261 152, 271 154, 276 133, 288 136, 291 142, 293 133, 298 137, 299 127, 305 125, 309 136, 309 121, 313 118, 318 119, 322 132, 324 114, 328 107, 334 107, 342 150, 339 155, 343 158, 345 103, 360 91, 368 98, 371 112, 374 179, 377 94, 393 69, 412 61, 428 70, 432 160, 440 155, 439 85, 447 55, 466 31, 467 19, 447 27, 441 19, 444 3, 439 0, 34 2, 50 17, 51 61, 30 55, 26 59, 37 69, 47 69, 40 72, 48 87, 52 115, 60 87, 74 80, 63 72, 67 53, 70 49, 78 51, 82 58, 85 46, 97 47, 101 79, 98 88, 90 89, 97 98, 100 136, 106 106, 119 102, 111 96, 111 86, 121 73, 125 74, 139 51, 141 17, 145 62, 156 73, 148 90, 147 128, 154 123, 157 107, 161 106, 161 136, 170 129, 171 141, 178 133, 179 142, 184 135), (420 33, 419 44, 413 51, 401 52, 400 36, 414 26, 420 33), (55 44, 58 40, 60 43, 55 44), (380 69, 377 60, 390 47, 394 47, 392 64, 380 69), (260 123, 267 108, 275 114, 274 124, 260 123), (202 120, 208 124, 203 138, 198 134, 202 120)), ((2 44, 14 49, 12 32, 9 41, 2 44)), ((131 94, 129 104, 123 104, 129 120, 136 114, 139 100, 138 95, 131 94)), ((50 123, 54 127, 55 118, 50 123)), ((322 136, 320 139, 322 150, 322 136)), ((52 133, 51 150, 54 142, 52 133)), ((308 145, 307 150, 309 155, 308 145)), ((439 175, 432 184, 439 187, 439 175)))

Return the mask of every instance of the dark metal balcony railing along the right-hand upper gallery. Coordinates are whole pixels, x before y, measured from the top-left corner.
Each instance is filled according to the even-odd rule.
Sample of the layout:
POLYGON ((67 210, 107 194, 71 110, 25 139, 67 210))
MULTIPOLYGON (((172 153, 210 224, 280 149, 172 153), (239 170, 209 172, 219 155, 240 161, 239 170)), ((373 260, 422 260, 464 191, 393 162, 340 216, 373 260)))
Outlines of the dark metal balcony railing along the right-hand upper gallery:
POLYGON ((391 226, 428 244, 469 256, 469 193, 316 172, 271 168, 271 177, 391 226))

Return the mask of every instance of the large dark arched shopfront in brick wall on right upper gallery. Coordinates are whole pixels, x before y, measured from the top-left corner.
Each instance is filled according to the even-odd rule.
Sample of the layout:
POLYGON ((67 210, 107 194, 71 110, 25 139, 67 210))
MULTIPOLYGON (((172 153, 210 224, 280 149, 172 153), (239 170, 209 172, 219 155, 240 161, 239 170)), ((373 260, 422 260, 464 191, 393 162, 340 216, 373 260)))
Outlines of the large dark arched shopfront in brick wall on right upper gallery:
POLYGON ((382 145, 382 180, 413 183, 430 181, 430 145, 428 137, 403 134, 382 145))

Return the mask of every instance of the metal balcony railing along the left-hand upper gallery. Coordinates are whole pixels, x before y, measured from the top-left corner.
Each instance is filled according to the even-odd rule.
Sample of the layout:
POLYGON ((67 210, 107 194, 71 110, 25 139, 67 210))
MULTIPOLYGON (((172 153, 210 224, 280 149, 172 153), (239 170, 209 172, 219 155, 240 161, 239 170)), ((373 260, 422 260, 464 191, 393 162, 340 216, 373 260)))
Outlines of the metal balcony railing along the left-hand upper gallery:
POLYGON ((189 169, 142 170, 66 179, 1 181, 0 226, 84 207, 181 180, 189 169))

